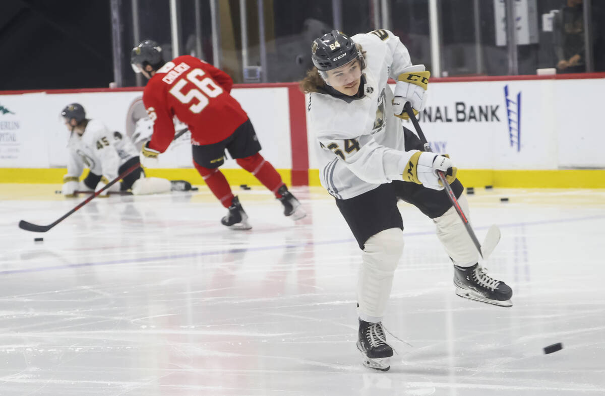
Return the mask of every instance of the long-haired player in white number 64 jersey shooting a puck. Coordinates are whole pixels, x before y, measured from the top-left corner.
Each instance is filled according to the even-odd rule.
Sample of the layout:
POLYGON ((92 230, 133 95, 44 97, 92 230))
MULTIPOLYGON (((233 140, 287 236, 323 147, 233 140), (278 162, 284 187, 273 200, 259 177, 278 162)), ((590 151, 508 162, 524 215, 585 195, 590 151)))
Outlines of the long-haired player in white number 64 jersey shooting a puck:
POLYGON ((333 30, 315 39, 311 51, 315 67, 301 89, 310 93, 309 129, 321 184, 336 198, 362 249, 357 345, 365 366, 387 371, 393 349, 382 318, 404 248, 398 200, 433 219, 454 264, 456 294, 510 307, 512 290, 478 265, 476 247, 442 191, 437 170, 446 172, 468 215, 456 167, 448 157, 422 151, 419 138, 399 120, 408 118, 405 103, 414 112, 425 106, 430 73, 424 65, 412 65, 399 37, 384 29, 353 37, 333 30), (394 94, 389 77, 397 81, 394 94))

